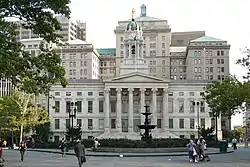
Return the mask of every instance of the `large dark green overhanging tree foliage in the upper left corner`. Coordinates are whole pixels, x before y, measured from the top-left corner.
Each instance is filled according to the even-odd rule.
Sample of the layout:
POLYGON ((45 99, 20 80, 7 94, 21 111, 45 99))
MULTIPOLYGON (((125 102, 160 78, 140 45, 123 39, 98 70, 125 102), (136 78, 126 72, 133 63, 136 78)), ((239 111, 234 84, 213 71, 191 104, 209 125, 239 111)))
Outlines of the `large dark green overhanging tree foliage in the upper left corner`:
POLYGON ((70 0, 2 0, 0 1, 0 78, 26 93, 44 93, 51 85, 66 86, 64 68, 55 51, 40 46, 41 54, 33 56, 24 51, 24 45, 16 40, 17 28, 8 18, 22 21, 22 27, 30 29, 47 43, 57 43, 60 23, 55 14, 70 15, 70 0))

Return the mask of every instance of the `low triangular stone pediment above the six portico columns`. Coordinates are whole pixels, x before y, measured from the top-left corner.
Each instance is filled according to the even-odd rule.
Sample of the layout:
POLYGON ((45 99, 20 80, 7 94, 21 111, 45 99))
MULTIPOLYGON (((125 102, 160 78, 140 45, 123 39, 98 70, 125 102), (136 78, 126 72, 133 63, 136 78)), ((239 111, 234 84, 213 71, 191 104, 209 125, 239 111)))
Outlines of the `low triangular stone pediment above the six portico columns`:
POLYGON ((143 74, 139 72, 134 72, 130 74, 121 75, 115 78, 112 78, 106 82, 121 82, 121 83, 152 83, 152 82, 167 82, 163 78, 158 78, 148 74, 143 74))

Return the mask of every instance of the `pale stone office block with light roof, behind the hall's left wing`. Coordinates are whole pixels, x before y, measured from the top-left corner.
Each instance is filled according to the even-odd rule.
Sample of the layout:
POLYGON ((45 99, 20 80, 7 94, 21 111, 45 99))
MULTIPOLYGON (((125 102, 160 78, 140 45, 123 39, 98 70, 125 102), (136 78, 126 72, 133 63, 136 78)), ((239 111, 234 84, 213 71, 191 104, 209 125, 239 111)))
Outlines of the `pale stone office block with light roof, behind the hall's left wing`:
POLYGON ((58 46, 66 79, 99 79, 99 53, 90 43, 80 39, 68 41, 66 46, 58 46))

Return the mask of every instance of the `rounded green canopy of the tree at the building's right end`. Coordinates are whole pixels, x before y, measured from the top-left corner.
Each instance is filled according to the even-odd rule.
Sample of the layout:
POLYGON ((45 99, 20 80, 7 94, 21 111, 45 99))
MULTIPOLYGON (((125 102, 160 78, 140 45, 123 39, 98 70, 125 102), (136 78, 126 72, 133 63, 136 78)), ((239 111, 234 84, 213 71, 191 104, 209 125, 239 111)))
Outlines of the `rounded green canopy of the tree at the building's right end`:
POLYGON ((203 98, 211 109, 211 116, 231 117, 241 112, 245 108, 243 103, 249 101, 249 85, 248 82, 241 83, 233 77, 208 84, 203 98))

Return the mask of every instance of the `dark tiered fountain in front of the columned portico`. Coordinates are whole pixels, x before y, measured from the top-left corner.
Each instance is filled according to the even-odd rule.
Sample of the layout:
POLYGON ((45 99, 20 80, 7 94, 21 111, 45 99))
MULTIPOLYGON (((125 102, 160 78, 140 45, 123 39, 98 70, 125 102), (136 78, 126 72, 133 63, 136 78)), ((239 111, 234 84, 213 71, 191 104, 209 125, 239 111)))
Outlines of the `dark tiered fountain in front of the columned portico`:
POLYGON ((145 116, 145 122, 144 125, 138 125, 138 128, 145 130, 144 133, 141 134, 141 140, 149 143, 152 140, 152 134, 150 134, 150 130, 154 129, 156 125, 150 125, 148 116, 151 115, 152 113, 150 113, 148 110, 149 106, 146 105, 144 107, 145 107, 145 112, 141 114, 145 116))

